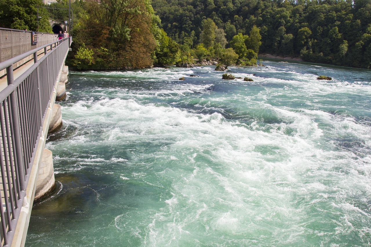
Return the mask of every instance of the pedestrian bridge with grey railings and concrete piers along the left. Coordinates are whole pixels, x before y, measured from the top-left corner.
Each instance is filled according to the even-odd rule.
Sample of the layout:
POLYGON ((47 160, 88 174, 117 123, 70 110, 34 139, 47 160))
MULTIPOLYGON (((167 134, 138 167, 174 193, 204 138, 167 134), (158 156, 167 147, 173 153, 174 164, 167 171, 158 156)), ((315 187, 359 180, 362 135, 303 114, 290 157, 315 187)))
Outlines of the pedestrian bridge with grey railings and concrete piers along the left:
POLYGON ((56 125, 55 100, 67 80, 72 37, 58 41, 39 33, 35 44, 33 34, 0 29, 1 246, 24 246, 35 192, 42 197, 54 188, 45 139, 56 125))

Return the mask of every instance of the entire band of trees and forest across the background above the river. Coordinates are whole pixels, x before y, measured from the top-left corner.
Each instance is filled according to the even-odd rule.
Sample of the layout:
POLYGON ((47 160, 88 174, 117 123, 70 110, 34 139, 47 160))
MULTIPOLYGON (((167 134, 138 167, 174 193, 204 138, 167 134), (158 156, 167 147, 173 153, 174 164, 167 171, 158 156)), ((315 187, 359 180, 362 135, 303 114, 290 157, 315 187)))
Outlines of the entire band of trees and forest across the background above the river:
MULTIPOLYGON (((68 0, 0 0, 1 27, 37 30, 36 6, 40 32, 51 32, 47 18, 68 17, 68 0)), ((371 67, 371 0, 76 0, 71 8, 68 63, 77 69, 256 65, 257 53, 371 67)))

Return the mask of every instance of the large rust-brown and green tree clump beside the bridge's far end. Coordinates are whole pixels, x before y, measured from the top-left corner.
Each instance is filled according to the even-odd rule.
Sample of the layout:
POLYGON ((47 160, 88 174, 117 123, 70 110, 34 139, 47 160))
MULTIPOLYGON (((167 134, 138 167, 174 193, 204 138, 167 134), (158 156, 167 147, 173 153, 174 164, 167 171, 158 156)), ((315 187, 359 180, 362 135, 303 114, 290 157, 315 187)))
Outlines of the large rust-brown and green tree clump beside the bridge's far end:
POLYGON ((81 11, 69 58, 77 69, 142 68, 178 59, 178 44, 163 35, 148 0, 76 2, 81 11))

